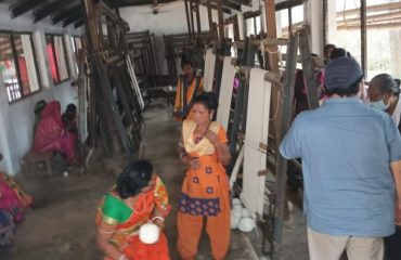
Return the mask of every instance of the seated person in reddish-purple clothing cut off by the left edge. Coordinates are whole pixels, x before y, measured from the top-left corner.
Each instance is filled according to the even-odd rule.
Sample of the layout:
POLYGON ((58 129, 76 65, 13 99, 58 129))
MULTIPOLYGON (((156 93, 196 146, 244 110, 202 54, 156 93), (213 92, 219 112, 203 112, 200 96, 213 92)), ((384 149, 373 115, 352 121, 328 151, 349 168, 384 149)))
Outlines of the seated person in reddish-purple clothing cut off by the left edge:
MULTIPOLYGON (((2 157, 0 153, 0 160, 2 157)), ((31 196, 24 193, 8 174, 0 172, 0 246, 13 244, 15 224, 24 220, 24 210, 31 203, 31 196)))

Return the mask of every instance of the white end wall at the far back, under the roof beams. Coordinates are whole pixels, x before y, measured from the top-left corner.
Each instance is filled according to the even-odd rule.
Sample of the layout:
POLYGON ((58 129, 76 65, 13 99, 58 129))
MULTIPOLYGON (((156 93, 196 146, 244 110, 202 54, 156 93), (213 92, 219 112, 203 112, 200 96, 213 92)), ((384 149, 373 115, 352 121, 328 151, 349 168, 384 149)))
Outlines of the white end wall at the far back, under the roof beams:
MULTIPOLYGON (((131 31, 150 30, 155 35, 155 48, 157 53, 157 61, 161 74, 167 75, 167 62, 165 58, 165 43, 163 35, 172 34, 187 34, 185 4, 183 1, 171 2, 168 4, 160 4, 158 14, 152 14, 151 5, 144 6, 129 6, 120 9, 121 17, 129 24, 131 31)), ((207 8, 200 5, 200 28, 203 31, 209 30, 209 22, 207 16, 207 8)), ((217 11, 212 10, 214 22, 218 21, 217 11)), ((195 31, 196 15, 194 13, 195 31)))

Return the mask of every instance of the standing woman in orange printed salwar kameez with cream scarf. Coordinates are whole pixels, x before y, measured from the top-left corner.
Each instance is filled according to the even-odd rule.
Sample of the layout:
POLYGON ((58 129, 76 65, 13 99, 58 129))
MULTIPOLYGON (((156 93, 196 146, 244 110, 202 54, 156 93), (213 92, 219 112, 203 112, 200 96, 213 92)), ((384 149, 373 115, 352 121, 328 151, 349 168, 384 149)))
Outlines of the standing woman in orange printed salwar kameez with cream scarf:
POLYGON ((203 93, 194 102, 194 120, 182 126, 186 166, 178 206, 178 251, 181 259, 195 259, 203 222, 210 238, 214 259, 224 259, 230 245, 230 188, 224 165, 230 162, 225 131, 211 121, 216 98, 203 93))

